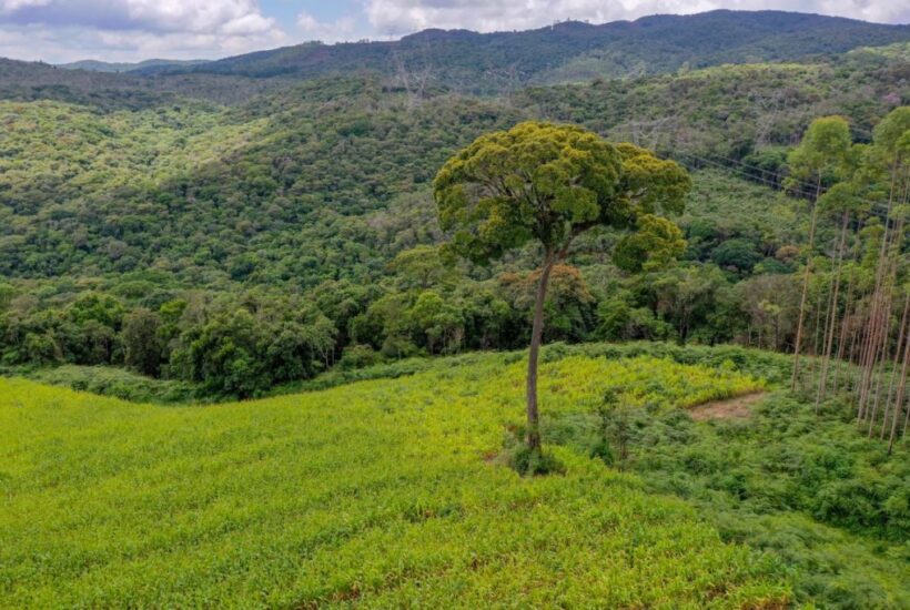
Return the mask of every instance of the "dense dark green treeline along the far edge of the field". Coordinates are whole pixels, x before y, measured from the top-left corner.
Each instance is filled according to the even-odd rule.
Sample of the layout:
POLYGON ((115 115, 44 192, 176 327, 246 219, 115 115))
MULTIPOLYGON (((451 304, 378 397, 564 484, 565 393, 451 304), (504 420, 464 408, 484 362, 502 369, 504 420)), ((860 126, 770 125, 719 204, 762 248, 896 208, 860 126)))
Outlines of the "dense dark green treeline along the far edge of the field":
MULTIPOLYGON (((737 279, 734 271, 698 262, 639 276, 610 265, 560 266, 545 338, 764 347, 791 340, 793 276, 737 279)), ((330 281, 295 295, 263 287, 161 289, 135 276, 89 288, 2 284, 0 364, 127 366, 192 382, 206 396, 255 396, 332 366, 522 348, 536 281, 534 273, 512 272, 475 279, 438 248, 417 246, 396 256, 378 284, 330 281)))

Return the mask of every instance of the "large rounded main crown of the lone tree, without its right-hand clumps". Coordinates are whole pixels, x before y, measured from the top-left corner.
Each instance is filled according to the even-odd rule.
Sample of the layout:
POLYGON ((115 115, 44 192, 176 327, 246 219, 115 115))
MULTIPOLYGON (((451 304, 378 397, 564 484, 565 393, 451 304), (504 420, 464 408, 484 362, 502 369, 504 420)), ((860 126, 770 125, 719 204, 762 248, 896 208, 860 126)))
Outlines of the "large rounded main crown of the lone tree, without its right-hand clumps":
POLYGON ((532 238, 549 255, 588 224, 629 224, 628 203, 614 203, 620 169, 619 152, 595 134, 528 122, 449 159, 434 195, 464 256, 488 263, 532 238))

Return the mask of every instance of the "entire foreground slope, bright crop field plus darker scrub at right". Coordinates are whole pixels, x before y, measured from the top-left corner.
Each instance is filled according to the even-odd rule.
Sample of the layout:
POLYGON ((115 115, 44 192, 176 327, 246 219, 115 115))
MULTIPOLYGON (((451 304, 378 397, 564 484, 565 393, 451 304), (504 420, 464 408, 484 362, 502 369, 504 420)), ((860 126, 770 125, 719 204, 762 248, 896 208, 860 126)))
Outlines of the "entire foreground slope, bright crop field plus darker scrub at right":
POLYGON ((910 602, 908 447, 888 459, 836 405, 775 392, 788 357, 549 346, 544 437, 566 470, 533 479, 496 455, 523 420, 523 358, 209 407, 0 378, 0 606, 910 602), (685 413, 761 388, 745 418, 685 413), (598 410, 610 390, 626 454, 598 410))

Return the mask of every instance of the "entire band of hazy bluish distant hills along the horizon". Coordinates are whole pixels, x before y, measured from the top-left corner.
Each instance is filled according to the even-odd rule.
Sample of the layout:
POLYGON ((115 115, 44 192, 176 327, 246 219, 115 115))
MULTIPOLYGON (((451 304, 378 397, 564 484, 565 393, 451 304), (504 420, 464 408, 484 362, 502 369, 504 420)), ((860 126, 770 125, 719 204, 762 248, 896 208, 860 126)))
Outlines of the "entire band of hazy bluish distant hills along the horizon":
POLYGON ((425 30, 394 42, 310 42, 206 62, 0 59, 0 100, 57 100, 104 110, 170 103, 174 94, 235 104, 289 82, 378 73, 412 96, 496 95, 527 85, 638 78, 725 63, 830 60, 910 42, 910 26, 781 11, 712 11, 523 32, 425 30), (73 69, 81 68, 81 69, 73 69))

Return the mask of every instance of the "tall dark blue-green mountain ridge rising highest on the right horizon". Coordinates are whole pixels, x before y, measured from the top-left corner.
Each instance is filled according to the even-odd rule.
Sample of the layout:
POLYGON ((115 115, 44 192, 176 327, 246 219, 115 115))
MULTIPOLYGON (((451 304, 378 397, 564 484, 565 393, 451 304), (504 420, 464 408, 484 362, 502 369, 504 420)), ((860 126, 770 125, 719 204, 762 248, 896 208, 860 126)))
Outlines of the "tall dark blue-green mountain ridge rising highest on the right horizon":
POLYGON ((371 70, 398 77, 412 88, 436 84, 487 93, 526 83, 796 60, 908 40, 908 26, 781 11, 719 10, 601 26, 569 21, 523 32, 425 30, 396 42, 311 42, 199 65, 158 65, 136 72, 310 79, 371 70))

